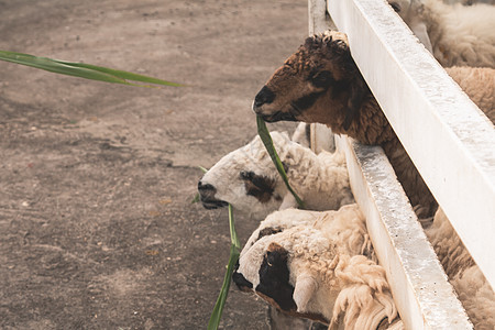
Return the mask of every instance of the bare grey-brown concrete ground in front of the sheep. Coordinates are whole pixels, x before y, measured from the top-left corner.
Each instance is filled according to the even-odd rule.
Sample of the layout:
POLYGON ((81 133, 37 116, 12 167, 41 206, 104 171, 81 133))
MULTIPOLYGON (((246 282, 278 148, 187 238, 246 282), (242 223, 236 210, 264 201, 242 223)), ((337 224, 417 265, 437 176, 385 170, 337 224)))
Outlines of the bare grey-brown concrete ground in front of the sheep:
MULTIPOLYGON (((0 329, 206 328, 227 209, 201 176, 255 134, 251 102, 307 2, 0 1, 0 50, 187 84, 135 88, 0 62, 0 329)), ((293 130, 282 123, 272 129, 293 130)), ((256 222, 237 217, 245 241, 256 222)), ((233 286, 222 329, 267 329, 233 286)))

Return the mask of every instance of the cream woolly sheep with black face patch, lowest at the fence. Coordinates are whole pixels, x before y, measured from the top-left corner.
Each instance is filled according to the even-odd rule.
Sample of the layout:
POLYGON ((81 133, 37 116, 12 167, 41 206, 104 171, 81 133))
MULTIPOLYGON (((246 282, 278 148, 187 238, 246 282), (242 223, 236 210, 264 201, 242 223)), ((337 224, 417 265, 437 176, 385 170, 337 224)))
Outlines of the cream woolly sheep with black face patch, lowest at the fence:
POLYGON ((242 250, 232 278, 284 312, 329 329, 402 324, 355 204, 338 211, 272 213, 242 250))

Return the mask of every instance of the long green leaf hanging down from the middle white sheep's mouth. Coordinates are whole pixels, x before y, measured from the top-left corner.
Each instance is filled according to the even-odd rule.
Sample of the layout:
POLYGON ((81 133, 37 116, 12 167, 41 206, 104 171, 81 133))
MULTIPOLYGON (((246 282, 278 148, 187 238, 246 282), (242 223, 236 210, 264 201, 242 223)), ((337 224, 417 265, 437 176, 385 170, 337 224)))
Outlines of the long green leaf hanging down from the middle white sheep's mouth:
POLYGON ((220 324, 223 307, 226 306, 227 295, 229 294, 230 283, 232 274, 234 272, 235 263, 239 260, 241 243, 239 242, 238 234, 235 233, 234 219, 232 212, 232 206, 229 205, 229 227, 230 227, 230 256, 229 264, 227 265, 226 276, 223 277, 222 288, 218 295, 217 302, 215 304, 213 311, 211 312, 210 320, 208 322, 208 330, 216 330, 220 324))

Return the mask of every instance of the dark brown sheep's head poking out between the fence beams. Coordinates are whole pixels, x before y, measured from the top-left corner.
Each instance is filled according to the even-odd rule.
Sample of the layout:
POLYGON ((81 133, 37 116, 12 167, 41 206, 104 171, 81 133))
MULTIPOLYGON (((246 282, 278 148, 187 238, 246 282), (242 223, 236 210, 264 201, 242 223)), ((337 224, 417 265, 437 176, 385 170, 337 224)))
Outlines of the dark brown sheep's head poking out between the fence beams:
POLYGON ((328 31, 308 37, 275 72, 256 95, 253 110, 268 122, 320 122, 344 133, 369 92, 345 34, 328 31))

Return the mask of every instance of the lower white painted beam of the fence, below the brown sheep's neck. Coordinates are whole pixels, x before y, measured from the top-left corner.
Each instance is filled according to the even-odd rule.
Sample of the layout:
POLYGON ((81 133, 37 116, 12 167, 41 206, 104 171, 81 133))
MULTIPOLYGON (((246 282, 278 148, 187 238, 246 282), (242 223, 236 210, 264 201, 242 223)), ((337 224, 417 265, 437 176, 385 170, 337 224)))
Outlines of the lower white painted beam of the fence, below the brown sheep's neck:
POLYGON ((336 140, 406 329, 472 329, 382 147, 336 140))

